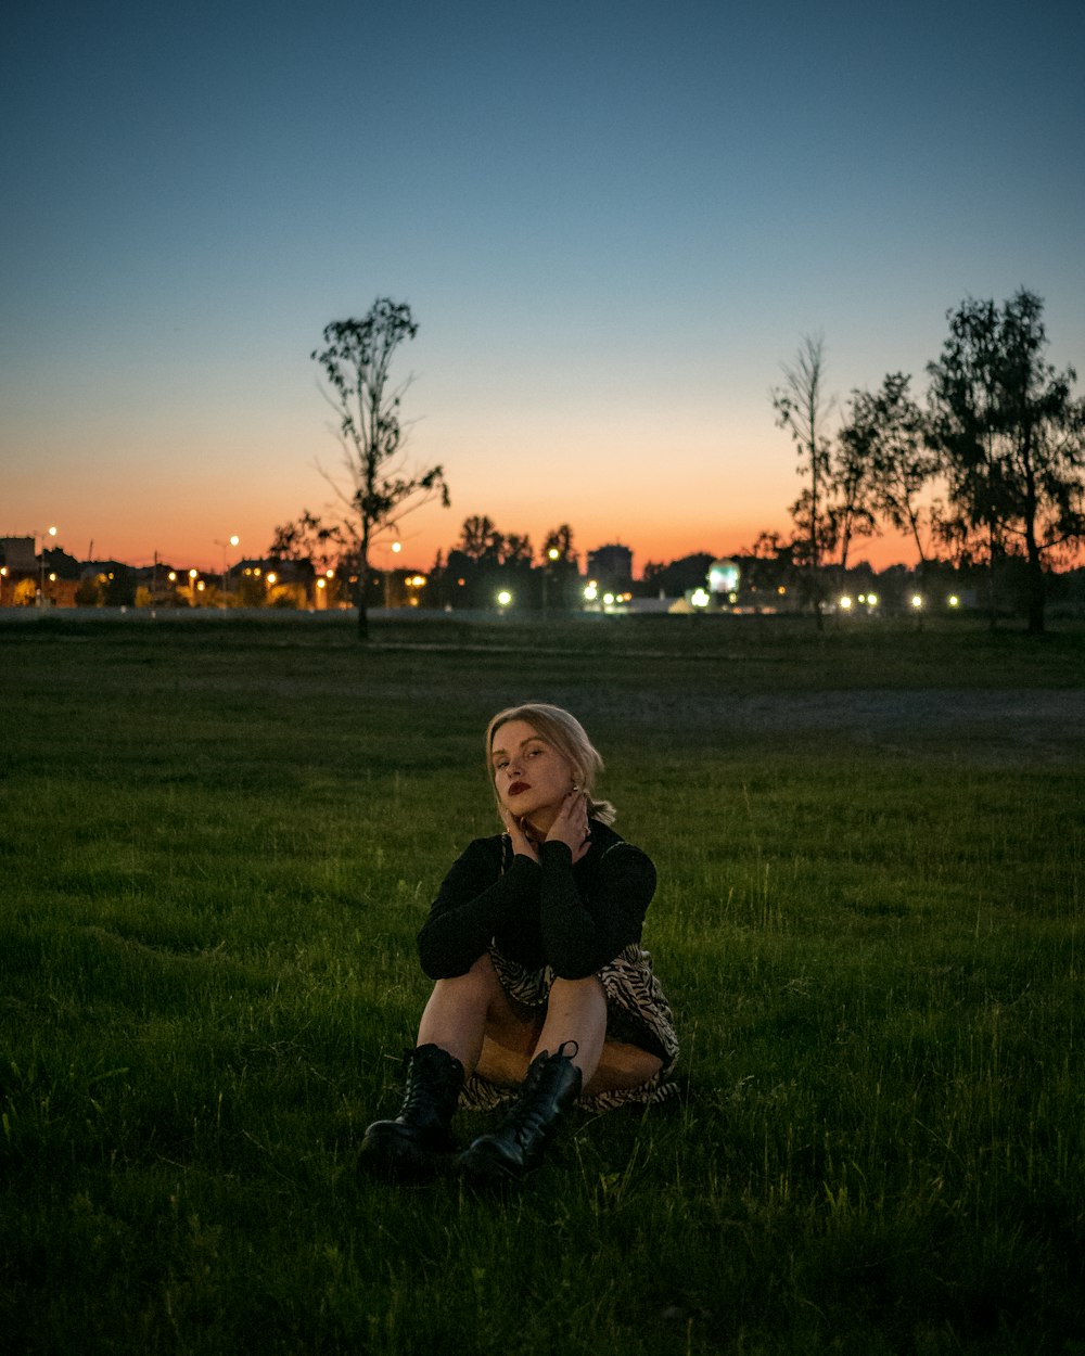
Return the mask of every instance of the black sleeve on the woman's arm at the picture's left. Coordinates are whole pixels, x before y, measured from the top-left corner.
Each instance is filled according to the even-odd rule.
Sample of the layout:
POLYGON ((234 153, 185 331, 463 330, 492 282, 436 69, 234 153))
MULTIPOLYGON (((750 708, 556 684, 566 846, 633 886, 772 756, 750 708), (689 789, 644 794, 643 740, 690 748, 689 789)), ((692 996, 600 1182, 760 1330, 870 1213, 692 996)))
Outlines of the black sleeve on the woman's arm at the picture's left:
POLYGON ((514 857, 502 875, 502 850, 499 838, 476 838, 441 883, 418 934, 418 959, 430 979, 465 975, 513 909, 538 907, 538 865, 514 857))

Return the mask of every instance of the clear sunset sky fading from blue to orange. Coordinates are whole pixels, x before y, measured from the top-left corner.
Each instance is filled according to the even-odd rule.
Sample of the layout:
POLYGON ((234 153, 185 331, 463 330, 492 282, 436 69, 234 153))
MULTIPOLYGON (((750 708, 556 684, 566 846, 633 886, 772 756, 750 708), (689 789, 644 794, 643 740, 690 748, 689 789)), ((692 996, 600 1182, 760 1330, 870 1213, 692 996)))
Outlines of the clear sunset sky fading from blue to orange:
POLYGON ((20 5, 0 536, 262 555, 330 503, 309 354, 378 296, 452 492, 403 564, 472 514, 637 572, 784 530, 804 334, 842 399, 922 389, 945 312, 1025 286, 1085 370, 1084 65, 1080 0, 20 5))

